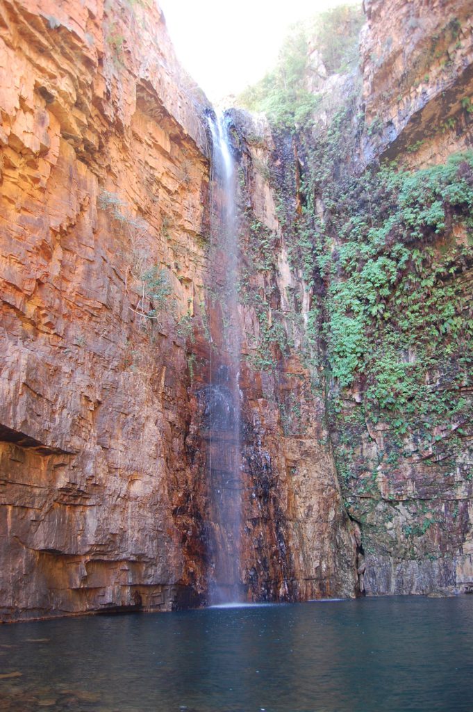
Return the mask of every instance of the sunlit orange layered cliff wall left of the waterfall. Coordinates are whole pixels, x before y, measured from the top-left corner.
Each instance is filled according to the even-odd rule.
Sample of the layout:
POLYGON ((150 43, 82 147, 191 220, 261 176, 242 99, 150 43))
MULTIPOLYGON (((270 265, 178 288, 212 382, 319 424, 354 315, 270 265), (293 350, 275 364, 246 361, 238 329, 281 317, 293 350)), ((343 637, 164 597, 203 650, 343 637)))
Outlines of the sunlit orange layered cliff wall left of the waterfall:
POLYGON ((109 13, 1 9, 6 619, 166 608, 189 590, 173 515, 190 472, 178 325, 202 299, 204 103, 159 13, 109 13))

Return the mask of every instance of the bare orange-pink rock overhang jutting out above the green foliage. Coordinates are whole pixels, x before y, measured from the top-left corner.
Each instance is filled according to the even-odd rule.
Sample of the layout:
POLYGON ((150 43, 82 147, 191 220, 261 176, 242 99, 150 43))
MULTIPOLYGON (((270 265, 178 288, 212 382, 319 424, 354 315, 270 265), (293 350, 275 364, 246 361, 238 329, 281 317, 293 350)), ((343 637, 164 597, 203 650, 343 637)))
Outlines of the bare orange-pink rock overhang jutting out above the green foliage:
POLYGON ((364 7, 366 159, 402 155, 420 167, 444 162, 469 147, 465 108, 473 73, 470 4, 398 0, 388 7, 366 0, 364 7))

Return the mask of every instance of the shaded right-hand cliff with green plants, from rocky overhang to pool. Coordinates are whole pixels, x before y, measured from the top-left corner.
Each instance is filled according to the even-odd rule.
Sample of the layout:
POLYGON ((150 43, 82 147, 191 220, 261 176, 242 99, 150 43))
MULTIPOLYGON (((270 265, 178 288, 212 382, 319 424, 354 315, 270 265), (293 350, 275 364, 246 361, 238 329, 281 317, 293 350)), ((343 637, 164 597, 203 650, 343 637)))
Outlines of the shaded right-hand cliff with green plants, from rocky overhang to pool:
MULTIPOLYGON (((289 256, 266 267, 287 275, 267 342, 310 365, 368 594, 473 583, 472 19, 435 9, 366 3, 361 75, 272 152, 240 118, 289 256)), ((277 396, 291 428, 299 393, 277 396)))

